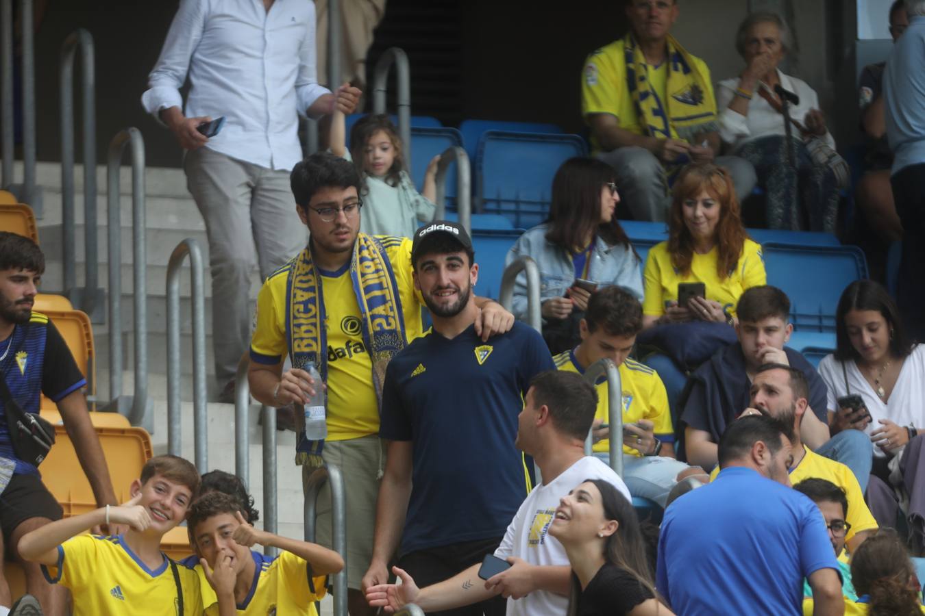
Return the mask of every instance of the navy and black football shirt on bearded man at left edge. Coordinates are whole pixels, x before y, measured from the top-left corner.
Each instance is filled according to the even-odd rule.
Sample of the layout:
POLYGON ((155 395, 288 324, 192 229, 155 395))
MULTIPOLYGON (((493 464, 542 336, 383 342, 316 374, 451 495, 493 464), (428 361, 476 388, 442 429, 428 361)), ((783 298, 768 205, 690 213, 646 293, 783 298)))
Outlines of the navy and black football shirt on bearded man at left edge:
MULTIPOLYGON (((58 402, 87 384, 70 354, 68 344, 54 323, 40 312, 33 312, 25 325, 0 341, 0 374, 19 408, 39 412, 39 393, 58 402)), ((35 466, 17 459, 6 428, 6 403, 0 396, 0 457, 16 460, 16 473, 38 473, 35 466)))

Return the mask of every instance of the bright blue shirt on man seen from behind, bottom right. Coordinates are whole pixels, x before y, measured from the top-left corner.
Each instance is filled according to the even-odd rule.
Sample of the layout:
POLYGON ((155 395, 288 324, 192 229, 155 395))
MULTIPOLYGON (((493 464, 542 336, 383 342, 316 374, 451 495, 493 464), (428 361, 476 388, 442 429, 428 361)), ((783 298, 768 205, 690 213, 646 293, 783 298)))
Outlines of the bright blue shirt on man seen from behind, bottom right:
POLYGON ((819 508, 741 466, 665 511, 656 584, 685 616, 801 614, 803 578, 839 571, 819 508))

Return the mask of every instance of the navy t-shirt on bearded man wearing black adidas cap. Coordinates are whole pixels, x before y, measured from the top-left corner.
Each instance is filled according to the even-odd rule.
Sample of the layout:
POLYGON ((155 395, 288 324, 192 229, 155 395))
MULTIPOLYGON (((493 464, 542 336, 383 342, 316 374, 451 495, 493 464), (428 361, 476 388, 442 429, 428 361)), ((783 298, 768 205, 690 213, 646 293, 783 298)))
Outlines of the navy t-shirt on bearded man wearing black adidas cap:
POLYGON ((532 488, 514 447, 530 380, 554 370, 539 333, 516 321, 488 339, 428 332, 388 363, 379 434, 413 441, 401 553, 503 537, 532 488))

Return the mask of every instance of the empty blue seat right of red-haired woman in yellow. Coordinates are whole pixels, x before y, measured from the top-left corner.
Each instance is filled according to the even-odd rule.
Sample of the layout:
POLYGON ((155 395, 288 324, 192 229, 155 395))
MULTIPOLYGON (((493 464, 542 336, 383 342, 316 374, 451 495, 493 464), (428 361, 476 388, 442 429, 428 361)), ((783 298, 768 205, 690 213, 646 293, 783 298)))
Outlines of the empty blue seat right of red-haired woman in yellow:
POLYGON ((790 297, 790 319, 800 332, 834 332, 835 307, 845 286, 868 277, 864 253, 853 246, 770 242, 762 252, 768 284, 783 289, 790 297))

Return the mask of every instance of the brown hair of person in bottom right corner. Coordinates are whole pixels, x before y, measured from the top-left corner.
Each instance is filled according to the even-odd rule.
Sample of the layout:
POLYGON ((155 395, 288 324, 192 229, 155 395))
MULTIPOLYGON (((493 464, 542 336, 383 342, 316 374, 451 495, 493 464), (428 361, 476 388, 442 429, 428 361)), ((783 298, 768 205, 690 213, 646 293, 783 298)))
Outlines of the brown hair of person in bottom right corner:
POLYGON ((870 596, 870 616, 921 616, 919 593, 911 584, 915 573, 892 529, 866 538, 851 557, 851 582, 858 596, 870 596))

